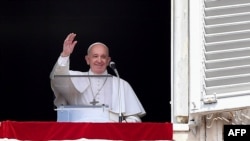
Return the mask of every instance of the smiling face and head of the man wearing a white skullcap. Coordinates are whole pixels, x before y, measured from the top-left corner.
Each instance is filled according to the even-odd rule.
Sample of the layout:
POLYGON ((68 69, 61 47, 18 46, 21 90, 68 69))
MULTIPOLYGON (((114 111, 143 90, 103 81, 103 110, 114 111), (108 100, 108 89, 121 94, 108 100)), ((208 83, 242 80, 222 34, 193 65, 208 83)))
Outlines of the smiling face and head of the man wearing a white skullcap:
POLYGON ((91 48, 89 54, 85 56, 85 60, 90 65, 92 72, 102 74, 109 65, 111 58, 108 49, 101 44, 97 44, 91 48))

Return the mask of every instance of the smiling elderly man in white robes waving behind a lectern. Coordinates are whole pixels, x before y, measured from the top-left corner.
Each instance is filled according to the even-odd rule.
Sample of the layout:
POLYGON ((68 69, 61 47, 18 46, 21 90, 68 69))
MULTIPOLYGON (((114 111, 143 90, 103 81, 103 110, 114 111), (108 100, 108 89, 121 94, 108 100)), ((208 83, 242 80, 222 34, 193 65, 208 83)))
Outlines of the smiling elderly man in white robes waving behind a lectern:
POLYGON ((70 70, 70 55, 77 44, 75 37, 76 34, 70 33, 64 40, 63 50, 50 75, 54 104, 57 107, 105 105, 109 116, 102 121, 118 122, 122 114, 122 122, 141 122, 146 112, 132 87, 127 81, 107 72, 111 57, 105 44, 96 42, 89 46, 85 56, 89 71, 70 70), (86 77, 55 77, 57 75, 86 77))

